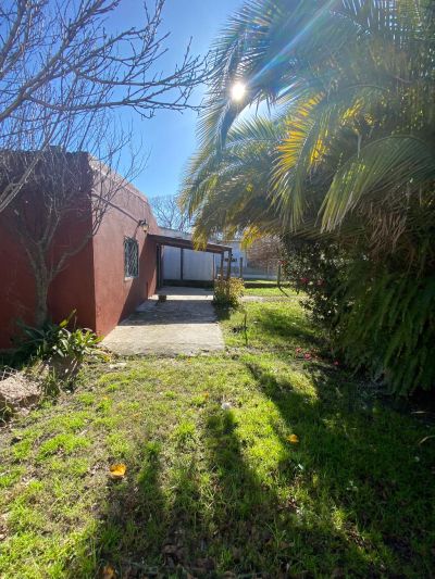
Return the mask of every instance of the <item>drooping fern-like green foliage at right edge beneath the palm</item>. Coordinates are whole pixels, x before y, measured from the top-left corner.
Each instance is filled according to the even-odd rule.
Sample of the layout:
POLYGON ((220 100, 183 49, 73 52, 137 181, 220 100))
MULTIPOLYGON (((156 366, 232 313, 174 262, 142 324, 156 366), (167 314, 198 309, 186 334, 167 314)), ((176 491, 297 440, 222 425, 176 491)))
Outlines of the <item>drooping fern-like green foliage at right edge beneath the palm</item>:
POLYGON ((337 316, 336 341, 345 358, 398 394, 434 388, 435 276, 353 267, 345 286, 352 307, 341 304, 337 316))

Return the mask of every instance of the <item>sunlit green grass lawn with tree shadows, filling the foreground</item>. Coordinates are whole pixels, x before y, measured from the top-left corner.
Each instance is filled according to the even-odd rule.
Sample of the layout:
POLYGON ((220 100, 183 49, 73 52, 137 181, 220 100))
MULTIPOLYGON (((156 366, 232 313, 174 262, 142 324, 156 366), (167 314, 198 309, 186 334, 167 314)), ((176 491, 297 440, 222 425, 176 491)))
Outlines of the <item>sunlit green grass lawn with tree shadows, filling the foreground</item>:
POLYGON ((89 365, 4 429, 0 577, 432 576, 433 426, 322 360, 297 301, 246 307, 222 355, 89 365))

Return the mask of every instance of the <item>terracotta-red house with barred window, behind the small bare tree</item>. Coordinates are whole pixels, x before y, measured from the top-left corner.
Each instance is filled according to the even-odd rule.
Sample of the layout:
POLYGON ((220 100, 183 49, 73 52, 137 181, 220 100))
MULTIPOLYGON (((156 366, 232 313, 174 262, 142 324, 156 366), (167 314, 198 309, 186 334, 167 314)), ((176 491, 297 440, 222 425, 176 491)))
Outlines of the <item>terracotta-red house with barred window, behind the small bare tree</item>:
MULTIPOLYGON (((52 281, 49 315, 59 322, 76 310, 79 326, 105 335, 156 291, 160 246, 152 235, 159 234, 159 227, 147 199, 133 185, 111 173, 101 189, 101 174, 95 171, 96 160, 87 153, 62 153, 62 159, 74 165, 77 202, 57 230, 53 255, 80 240, 86 243, 66 260, 52 281), (98 218, 91 200, 101 196, 113 179, 122 185, 114 187, 105 199, 107 211, 98 231, 90 237, 98 218)), ((4 173, 2 177, 4 181, 4 173)), ((47 207, 37 188, 26 185, 0 214, 1 349, 11 347, 17 319, 33 324, 35 317, 35 276, 11 227, 14 217, 23 211, 44 224, 47 207)))

